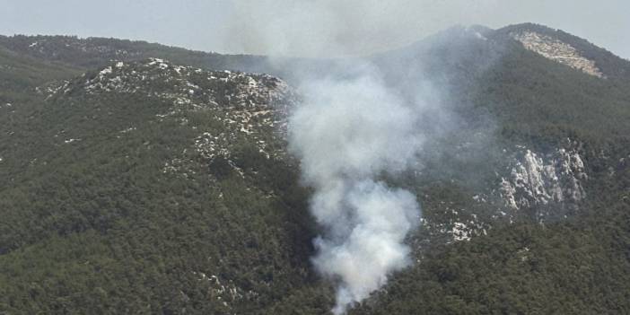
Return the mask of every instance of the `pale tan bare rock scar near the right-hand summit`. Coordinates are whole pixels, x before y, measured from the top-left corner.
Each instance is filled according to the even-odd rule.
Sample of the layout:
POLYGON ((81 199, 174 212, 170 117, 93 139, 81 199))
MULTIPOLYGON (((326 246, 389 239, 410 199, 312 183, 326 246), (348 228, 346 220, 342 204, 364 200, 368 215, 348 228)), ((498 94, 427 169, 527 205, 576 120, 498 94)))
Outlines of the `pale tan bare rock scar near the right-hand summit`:
POLYGON ((582 70, 585 74, 604 77, 594 61, 582 57, 577 49, 563 41, 533 31, 514 32, 510 35, 520 41, 525 48, 543 57, 582 70))

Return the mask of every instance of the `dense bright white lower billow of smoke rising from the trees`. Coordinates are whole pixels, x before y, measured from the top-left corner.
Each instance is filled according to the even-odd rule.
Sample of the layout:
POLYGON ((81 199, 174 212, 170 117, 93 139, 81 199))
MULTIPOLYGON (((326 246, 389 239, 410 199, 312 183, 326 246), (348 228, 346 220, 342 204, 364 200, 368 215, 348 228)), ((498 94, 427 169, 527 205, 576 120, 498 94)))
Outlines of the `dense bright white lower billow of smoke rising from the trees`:
POLYGON ((323 275, 338 278, 336 314, 379 289, 389 273, 409 265, 410 249, 403 241, 419 214, 416 197, 406 190, 392 190, 372 180, 347 185, 345 203, 326 219, 352 219, 346 219, 346 226, 333 224, 330 236, 319 237, 315 241, 318 254, 313 258, 323 275))

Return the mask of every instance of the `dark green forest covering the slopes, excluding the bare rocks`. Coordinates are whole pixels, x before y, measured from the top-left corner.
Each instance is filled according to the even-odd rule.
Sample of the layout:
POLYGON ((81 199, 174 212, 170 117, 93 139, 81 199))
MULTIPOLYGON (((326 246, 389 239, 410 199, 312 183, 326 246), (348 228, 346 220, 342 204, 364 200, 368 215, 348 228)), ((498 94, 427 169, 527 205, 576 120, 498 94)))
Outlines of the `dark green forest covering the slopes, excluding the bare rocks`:
MULTIPOLYGON (((444 202, 486 220, 496 205, 470 196, 491 189, 483 174, 505 163, 497 152, 513 144, 546 152, 569 137, 583 144, 588 197, 565 220, 523 215, 488 223, 471 241, 421 229, 409 240, 419 262, 351 313, 630 312, 630 83, 553 63, 502 31, 486 35, 487 44, 444 40, 407 56, 431 60, 427 71, 442 72, 435 81, 468 119, 450 135, 452 146, 477 130, 493 144, 470 159, 436 153, 424 179, 398 180, 432 222, 455 215, 444 202), (475 124, 488 117, 494 126, 475 124), (451 171, 439 171, 445 167, 451 171)), ((0 314, 328 313, 334 287, 309 260, 318 228, 307 211, 311 192, 290 158, 267 158, 246 135, 234 138, 229 159, 196 153, 201 133, 226 132, 219 109, 160 119, 172 100, 157 95, 45 91, 59 80, 79 86, 109 59, 144 57, 258 66, 251 57, 118 39, 0 38, 0 314), (44 49, 25 53, 34 41, 44 49), (188 161, 186 171, 165 171, 173 159, 188 161)), ((202 87, 234 93, 230 84, 202 87)), ((230 98, 217 100, 226 108, 230 98)), ((284 146, 270 134, 265 140, 284 146)))

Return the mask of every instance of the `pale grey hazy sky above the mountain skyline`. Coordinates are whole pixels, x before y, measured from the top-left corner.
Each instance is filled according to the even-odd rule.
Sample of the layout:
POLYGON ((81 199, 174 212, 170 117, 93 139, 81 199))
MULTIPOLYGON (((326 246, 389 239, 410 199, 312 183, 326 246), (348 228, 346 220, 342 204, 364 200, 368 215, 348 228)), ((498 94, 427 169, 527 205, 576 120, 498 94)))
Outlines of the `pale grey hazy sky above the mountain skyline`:
POLYGON ((630 58, 629 13, 628 0, 0 0, 0 34, 339 55, 402 46, 454 24, 538 22, 630 58))

